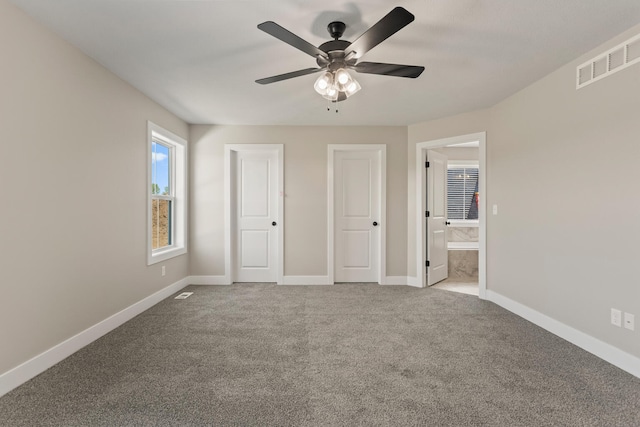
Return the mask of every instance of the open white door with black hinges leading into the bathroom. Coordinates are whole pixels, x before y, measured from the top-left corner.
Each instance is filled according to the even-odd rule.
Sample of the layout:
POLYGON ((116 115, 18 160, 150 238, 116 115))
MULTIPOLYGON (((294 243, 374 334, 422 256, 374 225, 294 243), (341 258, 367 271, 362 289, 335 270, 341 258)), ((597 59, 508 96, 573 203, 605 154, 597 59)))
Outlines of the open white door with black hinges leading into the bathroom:
POLYGON ((428 150, 427 161, 427 285, 449 277, 447 249, 447 156, 428 150))

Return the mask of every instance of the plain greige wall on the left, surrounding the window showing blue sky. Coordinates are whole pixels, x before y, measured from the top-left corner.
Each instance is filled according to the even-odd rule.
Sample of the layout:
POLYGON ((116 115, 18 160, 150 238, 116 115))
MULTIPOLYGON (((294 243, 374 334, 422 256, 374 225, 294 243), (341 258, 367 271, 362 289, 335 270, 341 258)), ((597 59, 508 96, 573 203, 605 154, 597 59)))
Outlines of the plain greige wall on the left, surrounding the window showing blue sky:
POLYGON ((146 262, 146 126, 188 126, 0 2, 0 373, 188 275, 146 262))

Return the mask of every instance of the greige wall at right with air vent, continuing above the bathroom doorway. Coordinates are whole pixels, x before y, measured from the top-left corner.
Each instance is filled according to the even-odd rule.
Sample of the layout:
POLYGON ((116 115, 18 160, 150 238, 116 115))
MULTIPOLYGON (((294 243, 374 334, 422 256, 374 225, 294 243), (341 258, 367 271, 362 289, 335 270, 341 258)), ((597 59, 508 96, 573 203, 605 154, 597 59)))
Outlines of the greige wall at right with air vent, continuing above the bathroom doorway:
POLYGON ((640 316, 640 66, 578 91, 575 74, 638 32, 488 111, 409 127, 410 156, 416 142, 487 131, 484 200, 499 205, 487 217, 488 290, 636 357, 638 330, 612 326, 609 315, 615 307, 640 316))

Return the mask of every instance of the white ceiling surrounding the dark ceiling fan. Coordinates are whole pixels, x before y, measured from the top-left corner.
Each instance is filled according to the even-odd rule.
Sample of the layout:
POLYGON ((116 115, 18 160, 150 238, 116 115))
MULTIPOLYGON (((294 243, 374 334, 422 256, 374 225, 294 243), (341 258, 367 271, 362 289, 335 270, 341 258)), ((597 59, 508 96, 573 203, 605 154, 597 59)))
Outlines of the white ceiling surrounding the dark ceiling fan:
POLYGON ((640 22, 640 0, 11 0, 189 123, 409 125, 499 102, 640 22), (356 74, 338 103, 316 75, 254 81, 315 67, 258 30, 275 21, 311 44, 326 25, 355 40, 393 7, 416 17, 362 60, 424 65, 418 79, 356 74))

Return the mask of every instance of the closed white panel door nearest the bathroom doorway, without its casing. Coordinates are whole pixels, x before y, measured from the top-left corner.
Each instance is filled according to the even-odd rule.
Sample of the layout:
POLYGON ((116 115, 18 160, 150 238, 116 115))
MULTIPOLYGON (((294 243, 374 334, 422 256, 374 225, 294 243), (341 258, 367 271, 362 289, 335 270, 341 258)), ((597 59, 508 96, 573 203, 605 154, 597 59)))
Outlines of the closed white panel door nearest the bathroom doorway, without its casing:
POLYGON ((333 171, 334 280, 379 282, 380 151, 335 151, 333 171))

